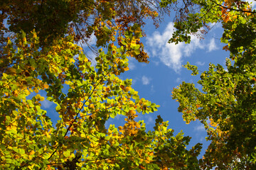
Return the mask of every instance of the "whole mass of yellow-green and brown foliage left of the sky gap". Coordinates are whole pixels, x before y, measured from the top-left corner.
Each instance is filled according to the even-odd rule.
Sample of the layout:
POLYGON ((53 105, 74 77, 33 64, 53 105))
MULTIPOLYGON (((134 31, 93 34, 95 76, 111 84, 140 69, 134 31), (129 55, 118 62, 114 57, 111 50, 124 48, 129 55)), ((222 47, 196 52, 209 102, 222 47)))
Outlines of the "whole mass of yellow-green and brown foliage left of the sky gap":
POLYGON ((1 2, 1 169, 198 169, 201 145, 186 149, 190 137, 174 136, 160 116, 146 131, 134 118, 159 106, 118 77, 127 57, 148 62, 140 38, 143 18, 157 16, 150 3, 1 2), (92 34, 95 67, 78 45, 92 34), (56 105, 55 125, 44 100, 56 105), (105 128, 116 115, 126 123, 105 128))

